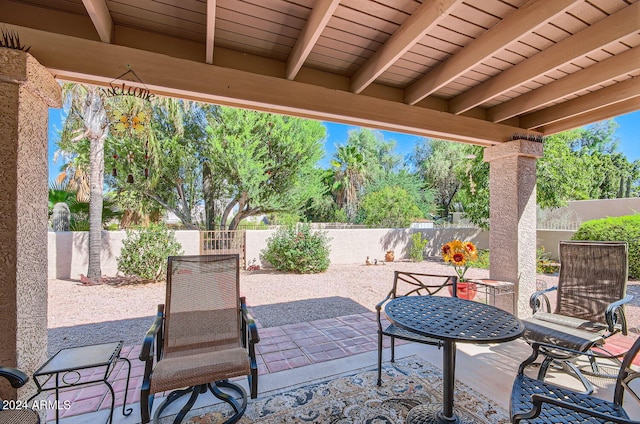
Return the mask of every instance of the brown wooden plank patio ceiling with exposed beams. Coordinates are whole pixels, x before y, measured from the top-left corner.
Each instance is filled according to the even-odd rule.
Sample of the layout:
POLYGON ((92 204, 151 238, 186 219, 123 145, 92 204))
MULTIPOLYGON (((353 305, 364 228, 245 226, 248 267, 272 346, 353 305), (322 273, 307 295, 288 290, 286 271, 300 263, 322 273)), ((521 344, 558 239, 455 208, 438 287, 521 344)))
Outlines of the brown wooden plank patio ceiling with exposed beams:
POLYGON ((636 0, 0 0, 56 77, 481 145, 640 109, 636 0))

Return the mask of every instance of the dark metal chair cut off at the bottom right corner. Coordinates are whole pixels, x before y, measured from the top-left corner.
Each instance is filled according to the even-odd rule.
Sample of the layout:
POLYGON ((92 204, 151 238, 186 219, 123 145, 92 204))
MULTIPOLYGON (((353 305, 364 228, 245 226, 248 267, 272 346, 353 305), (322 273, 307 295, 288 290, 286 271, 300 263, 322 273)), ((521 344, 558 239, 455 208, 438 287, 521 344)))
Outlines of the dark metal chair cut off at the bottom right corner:
POLYGON ((626 353, 618 372, 613 402, 578 393, 524 375, 520 367, 513 383, 510 400, 511 422, 543 423, 635 423, 622 407, 625 391, 640 401, 636 378, 640 376, 631 365, 640 351, 637 339, 626 353))

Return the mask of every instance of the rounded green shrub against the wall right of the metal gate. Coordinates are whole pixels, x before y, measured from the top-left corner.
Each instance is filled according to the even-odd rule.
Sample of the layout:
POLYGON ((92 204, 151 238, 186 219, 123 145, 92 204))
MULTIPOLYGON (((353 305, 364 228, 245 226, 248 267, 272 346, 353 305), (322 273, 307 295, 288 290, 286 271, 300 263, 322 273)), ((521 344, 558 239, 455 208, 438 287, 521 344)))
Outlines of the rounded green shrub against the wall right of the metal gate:
POLYGON ((281 227, 260 252, 279 271, 315 274, 329 268, 329 238, 309 224, 281 227))

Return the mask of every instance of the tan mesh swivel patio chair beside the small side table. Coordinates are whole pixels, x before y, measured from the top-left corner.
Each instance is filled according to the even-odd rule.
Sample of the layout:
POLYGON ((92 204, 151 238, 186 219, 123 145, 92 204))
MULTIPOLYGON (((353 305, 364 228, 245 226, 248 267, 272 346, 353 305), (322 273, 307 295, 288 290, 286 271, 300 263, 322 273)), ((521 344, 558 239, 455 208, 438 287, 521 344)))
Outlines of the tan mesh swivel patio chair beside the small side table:
POLYGON ((154 422, 169 404, 190 394, 174 421, 181 422, 207 389, 233 408, 226 422, 236 422, 247 406, 244 388, 229 381, 238 376, 248 376, 251 398, 256 398, 254 345, 259 337, 245 300, 239 297, 238 268, 238 255, 169 257, 166 303, 158 306, 140 353, 145 362, 143 423, 149 422, 156 393, 172 391, 157 408, 154 422))

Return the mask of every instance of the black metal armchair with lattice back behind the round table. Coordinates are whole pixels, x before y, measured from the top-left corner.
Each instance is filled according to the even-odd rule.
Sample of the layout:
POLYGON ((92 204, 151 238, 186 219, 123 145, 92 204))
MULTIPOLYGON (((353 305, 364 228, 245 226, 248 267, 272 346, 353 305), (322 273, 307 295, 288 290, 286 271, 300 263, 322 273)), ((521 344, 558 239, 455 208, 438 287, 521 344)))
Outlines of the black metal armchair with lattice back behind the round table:
POLYGON ((382 385, 382 344, 384 336, 391 338, 391 362, 395 362, 395 339, 433 345, 437 346, 438 349, 442 346, 441 340, 421 336, 393 324, 383 328, 381 311, 384 305, 391 299, 401 296, 432 296, 438 294, 448 296, 450 293, 448 288, 451 288, 451 293, 456 293, 457 281, 458 278, 456 276, 394 272, 391 291, 389 291, 387 297, 376 305, 378 319, 378 386, 382 385))

